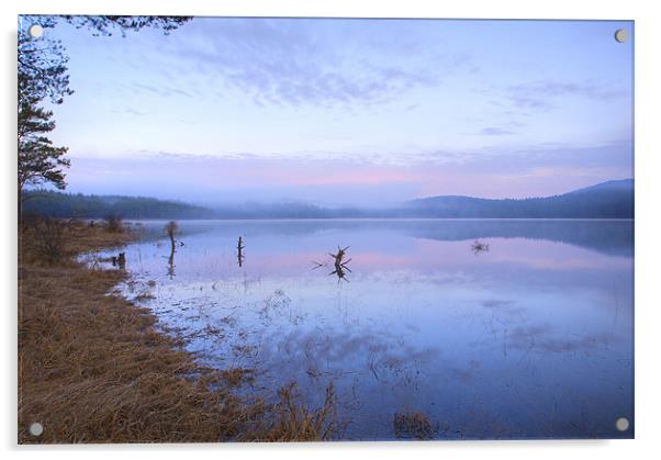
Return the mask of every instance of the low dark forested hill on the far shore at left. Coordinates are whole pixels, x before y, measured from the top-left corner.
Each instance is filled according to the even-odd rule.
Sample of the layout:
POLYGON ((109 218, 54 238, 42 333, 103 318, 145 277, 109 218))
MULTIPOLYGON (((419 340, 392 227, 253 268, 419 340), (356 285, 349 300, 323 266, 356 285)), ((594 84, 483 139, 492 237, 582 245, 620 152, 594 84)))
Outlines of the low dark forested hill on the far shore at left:
POLYGON ((144 197, 86 195, 53 191, 25 193, 22 212, 52 217, 103 218, 210 218, 211 210, 177 201, 144 197))

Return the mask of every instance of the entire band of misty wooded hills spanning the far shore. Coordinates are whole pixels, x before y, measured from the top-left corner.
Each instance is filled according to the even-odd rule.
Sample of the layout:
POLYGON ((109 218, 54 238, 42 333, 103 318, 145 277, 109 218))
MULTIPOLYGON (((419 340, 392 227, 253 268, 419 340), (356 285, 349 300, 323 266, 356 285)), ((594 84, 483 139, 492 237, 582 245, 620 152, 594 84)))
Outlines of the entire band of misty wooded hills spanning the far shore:
POLYGON ((99 218, 634 218, 634 180, 617 180, 556 197, 489 200, 432 197, 389 209, 330 209, 300 202, 244 203, 208 209, 142 197, 31 191, 23 212, 99 218))

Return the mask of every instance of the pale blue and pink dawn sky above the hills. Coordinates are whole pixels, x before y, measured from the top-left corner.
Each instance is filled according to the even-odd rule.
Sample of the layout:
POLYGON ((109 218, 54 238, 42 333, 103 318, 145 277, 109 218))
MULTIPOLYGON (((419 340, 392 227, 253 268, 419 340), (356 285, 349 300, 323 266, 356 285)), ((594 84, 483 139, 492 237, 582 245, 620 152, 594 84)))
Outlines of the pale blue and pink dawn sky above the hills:
POLYGON ((201 204, 523 198, 632 177, 631 22, 195 18, 46 33, 67 189, 201 204), (617 29, 629 40, 618 43, 617 29))

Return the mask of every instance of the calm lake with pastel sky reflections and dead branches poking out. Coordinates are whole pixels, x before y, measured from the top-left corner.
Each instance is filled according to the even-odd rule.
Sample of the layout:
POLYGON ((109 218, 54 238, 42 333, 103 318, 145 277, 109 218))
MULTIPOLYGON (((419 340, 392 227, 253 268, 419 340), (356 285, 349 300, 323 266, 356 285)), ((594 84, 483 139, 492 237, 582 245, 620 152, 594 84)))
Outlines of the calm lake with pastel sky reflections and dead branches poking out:
POLYGON ((333 382, 341 439, 634 436, 632 221, 189 221, 172 259, 138 224, 121 292, 237 392, 333 382))

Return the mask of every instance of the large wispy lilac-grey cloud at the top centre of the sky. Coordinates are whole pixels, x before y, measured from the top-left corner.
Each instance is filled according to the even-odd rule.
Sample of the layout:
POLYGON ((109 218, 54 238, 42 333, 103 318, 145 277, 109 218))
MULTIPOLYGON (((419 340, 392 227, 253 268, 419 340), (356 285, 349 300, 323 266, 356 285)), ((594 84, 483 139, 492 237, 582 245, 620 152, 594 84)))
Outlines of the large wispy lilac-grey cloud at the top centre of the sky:
MULTIPOLYGON (((383 103, 415 88, 436 87, 453 68, 472 66, 466 54, 379 46, 361 31, 366 23, 195 19, 165 52, 184 74, 202 74, 256 104, 277 105, 383 103)), ((396 27, 382 25, 384 40, 396 36, 396 27)), ((171 72, 170 65, 161 67, 171 72)))

